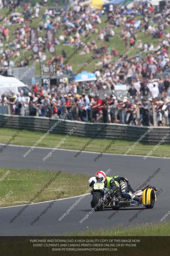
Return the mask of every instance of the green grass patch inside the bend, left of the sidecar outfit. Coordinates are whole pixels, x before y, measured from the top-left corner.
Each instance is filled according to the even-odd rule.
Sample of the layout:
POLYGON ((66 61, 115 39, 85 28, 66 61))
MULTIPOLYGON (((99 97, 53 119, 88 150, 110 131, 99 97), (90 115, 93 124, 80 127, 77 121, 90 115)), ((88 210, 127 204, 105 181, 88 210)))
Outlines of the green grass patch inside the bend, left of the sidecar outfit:
POLYGON ((48 184, 49 180, 52 180, 51 184, 47 185, 33 203, 55 200, 62 191, 64 193, 60 198, 78 196, 89 188, 87 181, 90 177, 81 174, 60 173, 58 170, 52 172, 10 169, 10 173, 4 177, 8 170, 0 169, 0 207, 26 204, 48 184), (56 173, 59 174, 53 181, 56 173))

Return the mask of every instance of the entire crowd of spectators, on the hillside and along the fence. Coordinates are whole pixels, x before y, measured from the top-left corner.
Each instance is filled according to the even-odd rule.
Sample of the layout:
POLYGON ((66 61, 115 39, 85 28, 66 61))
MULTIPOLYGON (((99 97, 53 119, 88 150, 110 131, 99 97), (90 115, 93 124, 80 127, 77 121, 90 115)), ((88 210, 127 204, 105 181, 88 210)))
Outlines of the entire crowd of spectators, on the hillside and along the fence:
MULTIPOLYGON (((63 83, 52 85, 51 87, 44 85, 43 88, 39 85, 33 85, 33 94, 29 95, 28 102, 26 103, 29 107, 30 115, 59 118, 72 105, 75 105, 75 109, 68 116, 70 120, 106 122, 106 120, 111 118, 116 123, 148 125, 153 123, 153 116, 156 115, 156 119, 163 116, 161 120, 162 125, 169 125, 170 75, 154 79, 152 83, 145 86, 148 80, 169 61, 170 33, 166 29, 170 26, 170 15, 167 14, 157 24, 161 15, 167 12, 168 7, 165 6, 164 10, 155 15, 152 4, 149 4, 141 12, 143 15, 142 19, 141 17, 136 17, 135 20, 131 20, 128 23, 127 21, 130 19, 131 14, 124 14, 127 11, 127 7, 125 6, 122 6, 114 16, 110 16, 116 10, 117 5, 113 6, 110 4, 108 9, 103 8, 102 10, 97 10, 95 7, 81 5, 81 3, 82 1, 80 0, 77 4, 74 4, 63 16, 59 14, 64 9, 48 9, 47 6, 47 9, 42 15, 42 20, 39 22, 39 54, 30 54, 25 60, 20 59, 18 61, 18 67, 28 66, 29 60, 46 60, 46 33, 49 28, 55 29, 56 45, 67 45, 70 48, 78 47, 84 42, 85 38, 91 34, 95 34, 95 40, 87 42, 78 54, 92 53, 95 60, 93 72, 97 79, 100 77, 103 78, 102 82, 96 83, 90 81, 76 83, 73 81, 64 90, 61 90, 63 83), (103 23, 103 26, 98 26, 102 22, 102 15, 105 18, 109 17, 109 20, 105 22, 106 24, 103 23), (119 35, 115 35, 115 28, 121 28, 119 35), (149 35, 150 42, 143 43, 138 38, 138 32, 143 33, 143 35, 149 35), (45 36, 42 36, 44 33, 45 36), (116 47, 112 48, 111 45, 107 46, 105 44, 109 42, 111 37, 115 36, 120 40, 120 44, 124 44, 124 52, 119 52, 116 47), (152 39, 154 38, 158 40, 157 46, 152 44, 152 39), (136 49, 136 54, 133 57, 125 54, 130 47, 136 49), (124 55, 125 57, 123 57, 124 55), (120 58, 122 60, 119 64, 111 68, 114 64, 114 59, 118 60, 120 58), (115 94, 115 86, 119 84, 128 85, 127 96, 124 98, 115 94), (141 88, 143 90, 139 95, 138 92, 141 88), (103 99, 96 96, 96 90, 99 89, 108 90, 112 93, 110 93, 109 97, 103 99), (89 90, 92 93, 88 96, 87 92, 89 90), (141 95, 143 96, 142 100, 141 95), (144 100, 145 96, 150 97, 150 100, 148 100, 149 103, 144 100), (121 111, 122 107, 123 109, 121 111), (164 117, 164 113, 166 113, 166 117, 164 117)), ((138 9, 140 9, 140 6, 133 6, 130 11, 134 12, 138 9)), ((32 10, 33 6, 26 4, 22 11, 23 18, 19 18, 19 20, 14 19, 15 23, 21 22, 26 16, 26 13, 32 10)), ((8 44, 5 44, 5 50, 0 49, 0 54, 2 54, 0 64, 2 67, 6 67, 9 64, 12 66, 12 60, 9 61, 9 59, 19 56, 18 50, 26 48, 29 44, 29 23, 32 22, 32 19, 26 21, 20 28, 14 31, 13 36, 15 36, 15 39, 13 41, 9 41, 9 21, 7 18, 4 26, 0 26, 0 47, 3 47, 3 40, 8 42, 8 44)), ((48 64, 55 62, 57 68, 63 63, 66 57, 67 54, 63 50, 60 55, 57 53, 57 56, 46 61, 48 64)), ((67 74, 70 77, 75 72, 76 70, 73 70, 70 63, 65 64, 59 70, 60 75, 67 74)), ((170 74, 170 71, 168 72, 170 74)), ((3 97, 1 97, 2 102, 6 98, 3 97)), ((13 98, 9 101, 12 106, 15 106, 17 95, 15 95, 15 98, 13 95, 13 98)), ((159 125, 161 125, 161 121, 159 125)))

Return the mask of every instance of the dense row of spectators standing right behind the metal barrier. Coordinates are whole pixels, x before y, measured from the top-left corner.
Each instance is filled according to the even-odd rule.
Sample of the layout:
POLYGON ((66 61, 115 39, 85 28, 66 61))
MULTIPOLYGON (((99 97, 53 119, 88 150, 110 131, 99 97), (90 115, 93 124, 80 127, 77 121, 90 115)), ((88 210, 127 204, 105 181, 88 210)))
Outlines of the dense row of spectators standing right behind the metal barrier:
MULTIPOLYGON (((161 80, 160 80, 161 81, 161 80)), ((162 88, 170 85, 169 79, 163 84, 162 88)), ((161 83, 161 82, 160 82, 161 83)), ((159 83, 159 84, 160 84, 159 83)), ((152 87, 155 87, 156 84, 152 87)), ((136 90, 133 85, 128 93, 136 90)), ((11 112, 17 110, 17 114, 27 114, 30 116, 41 116, 50 118, 60 118, 64 113, 68 113, 69 120, 78 120, 84 122, 106 123, 112 120, 112 123, 131 124, 131 125, 170 125, 170 97, 166 90, 163 90, 161 97, 154 94, 148 102, 145 99, 139 101, 135 93, 128 98, 116 96, 106 97, 101 100, 98 96, 86 95, 85 92, 80 95, 78 93, 68 93, 61 96, 59 87, 53 87, 51 90, 46 86, 39 89, 38 84, 33 85, 33 93, 29 92, 28 100, 25 99, 23 92, 15 95, 2 95, 0 103, 8 103, 11 112), (22 103, 25 102, 23 112, 20 109, 22 103), (74 108, 72 108, 74 106, 74 108), (72 111, 69 111, 70 108, 72 111), (159 121, 159 122, 158 122, 159 121)))

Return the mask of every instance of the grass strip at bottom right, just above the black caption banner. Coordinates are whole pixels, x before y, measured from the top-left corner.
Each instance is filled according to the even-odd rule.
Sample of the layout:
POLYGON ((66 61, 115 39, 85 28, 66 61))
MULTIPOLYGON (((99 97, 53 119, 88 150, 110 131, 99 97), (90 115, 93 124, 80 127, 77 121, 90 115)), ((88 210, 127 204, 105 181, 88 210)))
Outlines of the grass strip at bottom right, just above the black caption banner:
POLYGON ((150 224, 125 228, 117 226, 114 229, 96 229, 72 233, 72 236, 169 236, 170 223, 150 224))

